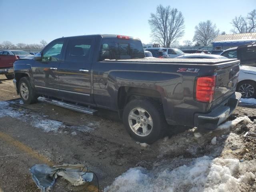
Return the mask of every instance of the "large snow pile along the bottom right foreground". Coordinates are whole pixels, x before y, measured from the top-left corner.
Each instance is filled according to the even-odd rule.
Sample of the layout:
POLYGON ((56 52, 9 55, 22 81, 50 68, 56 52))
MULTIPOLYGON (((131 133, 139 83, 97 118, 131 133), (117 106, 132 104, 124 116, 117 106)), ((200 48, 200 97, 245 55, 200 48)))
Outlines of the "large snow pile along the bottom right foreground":
POLYGON ((251 172, 240 178, 234 176, 239 160, 196 158, 190 165, 170 170, 166 164, 149 171, 130 168, 104 189, 104 192, 233 192, 240 184, 254 179, 251 172))

